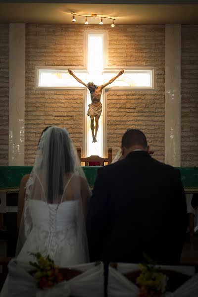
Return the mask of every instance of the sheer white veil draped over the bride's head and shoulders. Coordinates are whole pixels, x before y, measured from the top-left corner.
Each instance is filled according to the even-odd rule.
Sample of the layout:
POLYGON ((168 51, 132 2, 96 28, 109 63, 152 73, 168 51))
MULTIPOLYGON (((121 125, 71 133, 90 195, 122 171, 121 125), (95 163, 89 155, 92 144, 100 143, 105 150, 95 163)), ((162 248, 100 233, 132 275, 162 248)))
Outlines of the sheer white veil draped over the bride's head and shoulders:
POLYGON ((35 164, 26 184, 16 255, 32 230, 32 218, 27 207, 29 200, 42 200, 48 207, 78 199, 77 236, 88 260, 85 215, 89 197, 89 186, 68 132, 63 128, 49 127, 40 138, 35 164))

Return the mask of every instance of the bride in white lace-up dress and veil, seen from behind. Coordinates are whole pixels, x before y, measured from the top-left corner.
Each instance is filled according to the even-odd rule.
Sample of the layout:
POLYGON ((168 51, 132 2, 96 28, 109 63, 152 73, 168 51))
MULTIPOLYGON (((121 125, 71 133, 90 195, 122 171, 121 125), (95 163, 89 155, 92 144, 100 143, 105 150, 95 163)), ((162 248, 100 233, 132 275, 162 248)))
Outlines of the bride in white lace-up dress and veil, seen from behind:
MULTIPOLYGON (((35 261, 31 253, 40 252, 59 267, 88 262, 85 216, 89 197, 68 132, 49 127, 39 141, 31 174, 20 183, 17 260, 35 261)), ((6 283, 2 292, 5 287, 6 283)))

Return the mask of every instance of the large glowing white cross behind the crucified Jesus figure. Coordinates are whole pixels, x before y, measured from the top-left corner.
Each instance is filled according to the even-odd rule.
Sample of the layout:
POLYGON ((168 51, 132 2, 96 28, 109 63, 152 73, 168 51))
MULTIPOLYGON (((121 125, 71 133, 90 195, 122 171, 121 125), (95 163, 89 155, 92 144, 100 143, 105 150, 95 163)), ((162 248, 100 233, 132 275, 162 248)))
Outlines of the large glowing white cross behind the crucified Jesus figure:
MULTIPOLYGON (((105 82, 109 81, 113 76, 115 76, 121 67, 119 69, 105 69, 104 70, 104 59, 105 59, 105 51, 104 51, 104 33, 89 33, 88 32, 88 39, 87 39, 87 65, 85 65, 86 69, 80 70, 80 67, 75 66, 72 67, 75 75, 79 77, 83 82, 86 84, 90 81, 93 81, 96 85, 102 85, 105 82), (74 69, 75 68, 75 69, 74 69)), ((51 70, 51 68, 46 67, 45 69, 41 69, 41 73, 39 75, 38 70, 38 88, 42 87, 50 87, 50 88, 64 88, 64 89, 72 89, 72 90, 79 90, 79 89, 85 89, 85 87, 82 86, 82 84, 78 83, 71 75, 68 74, 67 71, 65 71, 65 68, 69 67, 61 67, 62 69, 58 68, 58 70, 51 70), (43 72, 42 72, 43 71, 43 72)), ((131 67, 125 67, 127 71, 125 71, 125 74, 119 77, 109 85, 107 88, 122 88, 122 90, 128 90, 129 88, 134 88, 137 85, 136 81, 140 81, 139 79, 139 73, 140 70, 136 70, 134 73, 134 70, 127 69, 131 67)), ((141 67, 135 67, 135 68, 141 68, 141 67)), ((141 81, 144 82, 144 86, 150 85, 150 75, 148 75, 148 72, 150 70, 146 71, 147 73, 145 77, 141 77, 141 81)), ((143 71, 142 71, 143 72, 143 71)), ((141 86, 141 85, 140 85, 141 86)), ((143 88, 144 88, 143 86, 143 88)), ((104 92, 104 90, 103 90, 104 92)), ((102 92, 102 93, 103 93, 102 92)), ((106 98, 106 96, 105 96, 106 98)), ((105 153, 105 102, 102 102, 104 97, 101 95, 101 103, 103 107, 102 114, 99 118, 99 130, 97 134, 97 142, 93 143, 92 140, 92 133, 90 129, 90 117, 87 116, 87 110, 88 105, 91 103, 91 97, 90 92, 87 89, 86 96, 85 96, 85 109, 84 109, 84 122, 85 122, 85 129, 84 129, 84 148, 83 148, 83 154, 84 157, 90 156, 90 155, 99 155, 101 157, 104 156, 105 153)))

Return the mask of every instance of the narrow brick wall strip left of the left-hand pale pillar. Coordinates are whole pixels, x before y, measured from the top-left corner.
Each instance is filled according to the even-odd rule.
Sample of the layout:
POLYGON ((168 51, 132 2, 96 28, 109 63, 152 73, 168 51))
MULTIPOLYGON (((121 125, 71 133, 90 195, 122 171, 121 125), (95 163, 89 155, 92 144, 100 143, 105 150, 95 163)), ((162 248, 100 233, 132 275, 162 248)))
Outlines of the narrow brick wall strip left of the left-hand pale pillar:
POLYGON ((9 25, 0 24, 0 166, 8 165, 9 25))

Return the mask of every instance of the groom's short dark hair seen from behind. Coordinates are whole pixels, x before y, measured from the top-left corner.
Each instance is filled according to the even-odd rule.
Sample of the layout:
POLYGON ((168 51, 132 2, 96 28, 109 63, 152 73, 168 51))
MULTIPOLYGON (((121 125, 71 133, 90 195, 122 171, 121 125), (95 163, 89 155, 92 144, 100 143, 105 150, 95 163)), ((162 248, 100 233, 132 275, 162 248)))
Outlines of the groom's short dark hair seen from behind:
POLYGON ((147 148, 147 138, 145 134, 138 129, 127 129, 122 137, 122 147, 131 148, 133 146, 141 146, 147 148))

